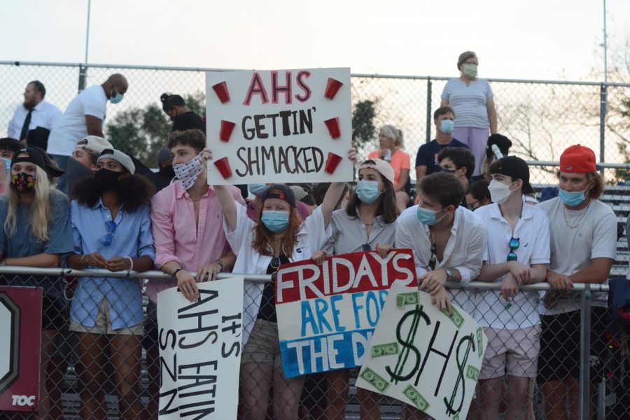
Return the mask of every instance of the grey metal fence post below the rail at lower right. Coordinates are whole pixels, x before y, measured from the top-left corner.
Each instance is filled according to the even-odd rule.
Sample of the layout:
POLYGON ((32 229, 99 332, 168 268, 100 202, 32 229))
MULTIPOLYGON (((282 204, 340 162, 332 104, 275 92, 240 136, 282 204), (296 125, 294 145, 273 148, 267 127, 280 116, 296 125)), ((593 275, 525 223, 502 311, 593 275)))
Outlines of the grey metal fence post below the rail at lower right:
POLYGON ((591 285, 584 284, 580 313, 580 420, 590 418, 591 408, 591 285))

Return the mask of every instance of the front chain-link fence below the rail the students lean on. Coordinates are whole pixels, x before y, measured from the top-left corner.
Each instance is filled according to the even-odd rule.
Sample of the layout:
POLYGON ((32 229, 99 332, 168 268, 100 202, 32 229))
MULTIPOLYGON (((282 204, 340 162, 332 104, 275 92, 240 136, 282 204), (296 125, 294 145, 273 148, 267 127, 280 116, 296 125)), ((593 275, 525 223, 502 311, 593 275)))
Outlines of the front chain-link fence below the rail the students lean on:
MULTIPOLYGON (((161 272, 103 273, 99 270, 62 271, 29 267, 4 267, 0 272, 0 284, 11 286, 20 286, 25 280, 32 280, 29 273, 41 273, 35 278, 39 282, 54 281, 58 286, 66 285, 64 295, 67 298, 72 297, 72 275, 83 276, 91 272, 91 276, 131 276, 126 281, 138 294, 141 293, 141 283, 137 281, 141 277, 148 281, 167 277, 161 272), (59 276, 59 273, 63 275, 59 276)), ((230 274, 220 275, 227 276, 230 274)), ((259 278, 256 276, 256 279, 259 278)), ((549 304, 545 299, 548 287, 546 283, 522 286, 520 293, 540 296, 541 302, 549 304)), ((59 286, 58 290, 61 288, 59 286)), ((498 288, 500 284, 472 283, 466 288, 469 301, 464 302, 464 306, 470 304, 478 310, 483 307, 481 302, 496 299, 498 288)), ((627 335, 618 335, 614 323, 610 321, 606 309, 607 292, 607 286, 576 284, 573 298, 587 310, 561 316, 542 316, 542 326, 523 330, 486 328, 489 346, 484 360, 487 363, 484 362, 485 367, 480 374, 484 381, 477 387, 468 418, 473 418, 472 413, 479 410, 486 413, 485 410, 490 408, 498 413, 497 417, 491 418, 498 418, 499 414, 511 418, 510 410, 514 408, 527 412, 530 419, 556 418, 552 417, 554 415, 563 417, 566 410, 582 413, 579 417, 583 419, 589 418, 586 414, 589 411, 593 419, 626 418, 626 389, 630 381, 630 360, 626 351, 629 343, 627 335), (555 341, 552 344, 550 340, 555 341), (502 365, 498 359, 505 356, 506 349, 510 356, 507 357, 507 365, 502 365), (505 379, 506 371, 521 372, 516 373, 520 383, 515 384, 514 378, 509 376, 505 379), (566 388, 565 381, 571 384, 569 388, 566 388)), ((145 297, 144 322, 132 328, 108 332, 86 330, 76 319, 78 308, 94 307, 94 302, 50 300, 50 296, 44 299, 43 321, 47 329, 42 333, 41 357, 42 375, 46 380, 41 406, 47 416, 38 418, 157 419, 160 386, 158 343, 147 340, 151 336, 151 328, 155 326, 155 305, 148 304, 147 307, 148 299, 145 297)), ((461 300, 461 293, 458 300, 461 300)), ((510 308, 511 313, 532 310, 519 307, 516 302, 510 308)), ((102 302, 100 304, 99 314, 107 316, 108 307, 103 307, 102 302)), ((114 305, 116 302, 105 304, 114 305)), ((475 316, 492 318, 492 313, 488 310, 475 316)), ((252 335, 248 343, 249 353, 257 351, 252 346, 257 348, 273 344, 265 335, 252 335)), ((397 400, 376 394, 366 396, 365 392, 362 395, 360 388, 354 386, 356 370, 344 374, 325 372, 307 375, 297 381, 278 381, 286 387, 283 392, 276 393, 267 387, 270 379, 267 374, 272 372, 273 361, 271 365, 267 360, 257 363, 249 360, 248 363, 255 384, 266 385, 259 390, 260 399, 255 401, 255 405, 251 405, 251 398, 242 398, 241 395, 239 418, 278 418, 274 417, 274 409, 281 409, 279 407, 283 405, 295 405, 295 412, 290 417, 294 419, 332 419, 339 414, 339 418, 358 419, 362 410, 363 415, 366 414, 366 407, 371 407, 372 414, 380 413, 383 419, 400 419, 405 411, 397 400), (252 364, 260 367, 260 372, 251 370, 252 364)), ((241 394, 245 386, 242 372, 243 367, 241 394)), ((571 418, 577 417, 576 414, 571 418)), ((22 419, 25 414, 0 412, 0 418, 22 419)), ((402 418, 415 417, 408 415, 402 418)))

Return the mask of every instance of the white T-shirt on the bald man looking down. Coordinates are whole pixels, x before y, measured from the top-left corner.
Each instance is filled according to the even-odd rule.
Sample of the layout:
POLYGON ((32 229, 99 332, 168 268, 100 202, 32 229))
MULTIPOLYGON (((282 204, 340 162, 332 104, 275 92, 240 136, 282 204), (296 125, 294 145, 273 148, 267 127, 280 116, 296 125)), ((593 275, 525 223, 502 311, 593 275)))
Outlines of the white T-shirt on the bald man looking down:
POLYGON ((48 137, 50 155, 71 156, 77 141, 87 136, 85 116, 105 120, 107 96, 101 85, 88 87, 68 105, 48 137))

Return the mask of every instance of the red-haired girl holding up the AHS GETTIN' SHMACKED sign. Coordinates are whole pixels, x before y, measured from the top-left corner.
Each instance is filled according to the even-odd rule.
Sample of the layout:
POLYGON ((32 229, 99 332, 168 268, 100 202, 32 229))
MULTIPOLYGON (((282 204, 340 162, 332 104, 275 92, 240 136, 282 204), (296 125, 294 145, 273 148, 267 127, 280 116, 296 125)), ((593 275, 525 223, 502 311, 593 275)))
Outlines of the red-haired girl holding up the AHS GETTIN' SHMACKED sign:
MULTIPOLYGON (((205 149, 202 157, 211 159, 205 149)), ((348 158, 356 160, 351 148, 348 158)), ((235 273, 274 274, 281 264, 306 260, 330 237, 332 211, 344 183, 332 183, 324 201, 304 222, 295 210, 293 190, 283 184, 262 193, 260 223, 247 217, 227 186, 214 186, 225 216, 225 236, 237 255, 235 273)), ((242 419, 265 419, 269 390, 273 388, 274 419, 295 419, 304 377, 287 379, 282 370, 276 323, 274 283, 246 281, 241 355, 242 419)))

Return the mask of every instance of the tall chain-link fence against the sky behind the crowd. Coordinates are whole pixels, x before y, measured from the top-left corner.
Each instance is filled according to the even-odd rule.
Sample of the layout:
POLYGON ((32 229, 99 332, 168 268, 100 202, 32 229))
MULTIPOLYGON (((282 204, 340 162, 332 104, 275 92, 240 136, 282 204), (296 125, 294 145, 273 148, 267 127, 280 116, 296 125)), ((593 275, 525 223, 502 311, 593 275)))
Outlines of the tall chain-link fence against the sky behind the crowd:
MULTIPOLYGON (((191 106, 194 110, 204 109, 204 71, 211 70, 0 62, 0 90, 4 93, 0 99, 0 134, 6 133, 15 107, 22 102, 21 94, 31 80, 40 80, 46 87, 45 99, 63 111, 79 90, 103 83, 111 73, 123 73, 130 88, 124 102, 108 107, 106 134, 111 134, 114 126, 129 124, 129 128, 139 133, 127 132, 127 138, 114 139, 118 146, 154 153, 155 146, 166 141, 168 130, 160 130, 161 125, 167 124, 167 117, 147 112, 149 107, 157 106, 160 111, 160 94, 172 92, 195 102, 191 106), (143 148, 128 144, 138 141, 144 142, 143 148)), ((405 150, 415 156, 421 144, 435 138, 432 115, 440 106, 447 80, 356 74, 351 78, 352 103, 356 106, 360 102, 373 102, 373 125, 400 127, 405 134, 405 150)), ((630 136, 624 112, 629 111, 630 85, 564 80, 490 79, 490 82, 498 132, 512 139, 512 153, 526 160, 557 160, 563 148, 580 143, 592 148, 602 162, 626 162, 624 151, 630 136)), ((376 148, 376 140, 374 133, 360 145, 363 155, 376 148)), ((151 153, 141 156, 148 165, 155 165, 154 157, 151 153)))

